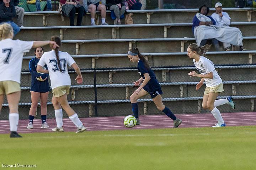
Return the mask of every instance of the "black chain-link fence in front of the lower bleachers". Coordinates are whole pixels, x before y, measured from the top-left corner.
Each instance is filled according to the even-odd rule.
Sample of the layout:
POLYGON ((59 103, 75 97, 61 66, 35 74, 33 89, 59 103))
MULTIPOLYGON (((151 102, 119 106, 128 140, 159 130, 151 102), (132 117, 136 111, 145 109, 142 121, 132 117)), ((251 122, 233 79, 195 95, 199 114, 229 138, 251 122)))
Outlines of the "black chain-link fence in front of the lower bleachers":
MULTIPOLYGON (((219 106, 221 112, 255 111, 256 98, 256 65, 222 65, 215 66, 223 80, 224 92, 219 94, 219 99, 233 96, 236 108, 228 104, 219 106)), ((96 68, 81 69, 84 82, 76 84, 76 73, 69 71, 71 89, 68 101, 80 117, 97 116, 123 116, 132 114, 129 96, 138 88, 133 86, 140 76, 137 68, 96 68)), ((208 113, 202 108, 202 97, 205 85, 196 91, 198 77, 188 76, 194 66, 178 67, 153 67, 156 78, 159 80, 163 101, 175 114, 208 113)), ((31 75, 23 71, 21 76, 20 119, 28 119, 31 106, 30 95, 31 75)), ((47 114, 54 117, 51 103, 52 92, 49 93, 47 114)), ((150 95, 138 100, 139 114, 163 114, 156 109, 150 95)), ((8 118, 8 104, 4 100, 0 120, 8 118)), ((40 118, 40 105, 37 107, 40 118)), ((65 115, 65 114, 64 114, 65 115)), ((66 116, 67 117, 67 116, 66 116)))

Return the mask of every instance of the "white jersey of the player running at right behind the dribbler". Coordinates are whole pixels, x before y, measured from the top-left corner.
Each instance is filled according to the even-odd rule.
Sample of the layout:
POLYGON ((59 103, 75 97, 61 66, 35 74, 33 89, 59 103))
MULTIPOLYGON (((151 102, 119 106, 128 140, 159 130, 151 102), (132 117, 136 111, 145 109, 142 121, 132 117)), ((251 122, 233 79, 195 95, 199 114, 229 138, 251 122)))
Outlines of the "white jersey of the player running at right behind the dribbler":
POLYGON ((204 78, 207 87, 217 86, 218 84, 222 83, 222 79, 218 75, 217 71, 214 68, 214 64, 212 61, 207 59, 206 57, 200 56, 198 62, 193 59, 194 65, 196 69, 202 74, 206 75, 207 73, 213 72, 213 78, 204 78))

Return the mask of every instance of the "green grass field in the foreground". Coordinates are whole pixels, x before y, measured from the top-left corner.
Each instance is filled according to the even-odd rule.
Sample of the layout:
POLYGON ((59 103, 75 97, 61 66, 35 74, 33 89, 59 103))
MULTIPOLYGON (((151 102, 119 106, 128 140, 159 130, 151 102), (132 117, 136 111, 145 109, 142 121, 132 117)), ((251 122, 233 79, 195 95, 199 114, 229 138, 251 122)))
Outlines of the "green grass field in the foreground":
POLYGON ((255 170, 256 126, 0 135, 0 169, 255 170), (36 164, 36 168, 2 168, 36 164))

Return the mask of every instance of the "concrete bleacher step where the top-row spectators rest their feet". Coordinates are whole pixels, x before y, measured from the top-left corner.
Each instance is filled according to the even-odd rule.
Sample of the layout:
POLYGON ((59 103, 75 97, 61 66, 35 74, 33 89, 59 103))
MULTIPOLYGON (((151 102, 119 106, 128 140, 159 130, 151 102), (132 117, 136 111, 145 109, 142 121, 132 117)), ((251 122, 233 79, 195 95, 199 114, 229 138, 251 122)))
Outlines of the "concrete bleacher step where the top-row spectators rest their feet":
MULTIPOLYGON (((243 36, 256 36, 256 22, 232 22, 232 27, 241 30, 243 36)), ((193 37, 192 23, 133 24, 109 26, 54 26, 22 27, 16 35, 21 40, 49 40, 58 35, 63 40, 74 39, 129 39, 129 38, 181 38, 193 37), (35 36, 31 36, 31 32, 35 36), (74 33, 79 36, 74 36, 74 33), (131 34, 132 33, 132 34, 131 34)))

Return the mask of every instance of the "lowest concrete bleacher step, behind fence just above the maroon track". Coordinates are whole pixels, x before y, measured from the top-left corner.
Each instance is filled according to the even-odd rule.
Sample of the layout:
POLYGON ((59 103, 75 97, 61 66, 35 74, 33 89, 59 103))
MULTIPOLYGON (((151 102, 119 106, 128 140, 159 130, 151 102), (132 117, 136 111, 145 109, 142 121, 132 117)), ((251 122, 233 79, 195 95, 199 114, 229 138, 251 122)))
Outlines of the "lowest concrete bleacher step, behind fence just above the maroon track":
MULTIPOLYGON (((202 98, 202 97, 201 97, 202 98)), ((235 97, 234 97, 235 98, 235 97)), ((256 111, 255 99, 251 98, 238 98, 234 100, 236 102, 236 108, 232 109, 231 106, 225 104, 218 106, 221 113, 225 112, 245 112, 256 111), (251 103, 254 103, 251 105, 251 103)), ((164 101, 164 105, 171 109, 174 114, 188 114, 188 113, 209 113, 208 110, 202 109, 202 99, 195 100, 176 100, 176 101, 164 101)), ((70 104, 71 108, 78 114, 79 117, 95 117, 95 105, 94 104, 70 104)), ((138 102, 139 115, 155 115, 163 114, 159 111, 154 102, 138 102)), ((28 119, 30 105, 19 106, 20 119, 28 119)), ((97 104, 98 117, 102 116, 126 116, 132 115, 131 104, 125 103, 99 103, 97 104)), ((0 119, 8 117, 9 108, 4 106, 1 111, 0 119)), ((63 110, 63 117, 67 117, 67 114, 63 110)), ((53 105, 47 105, 47 118, 55 118, 53 105)), ((37 108, 37 117, 40 118, 40 107, 37 108)))

